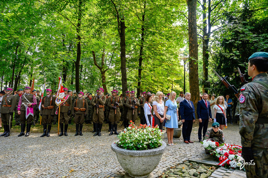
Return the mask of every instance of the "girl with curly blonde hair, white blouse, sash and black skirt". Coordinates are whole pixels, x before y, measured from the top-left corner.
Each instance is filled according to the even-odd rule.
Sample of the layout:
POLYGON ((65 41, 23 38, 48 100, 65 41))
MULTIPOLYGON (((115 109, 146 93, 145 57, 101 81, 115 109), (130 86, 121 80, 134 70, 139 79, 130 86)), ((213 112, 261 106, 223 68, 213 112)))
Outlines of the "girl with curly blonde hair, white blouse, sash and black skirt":
POLYGON ((226 106, 224 105, 224 97, 218 96, 214 106, 214 122, 218 122, 220 124, 220 130, 223 130, 226 120, 226 106))

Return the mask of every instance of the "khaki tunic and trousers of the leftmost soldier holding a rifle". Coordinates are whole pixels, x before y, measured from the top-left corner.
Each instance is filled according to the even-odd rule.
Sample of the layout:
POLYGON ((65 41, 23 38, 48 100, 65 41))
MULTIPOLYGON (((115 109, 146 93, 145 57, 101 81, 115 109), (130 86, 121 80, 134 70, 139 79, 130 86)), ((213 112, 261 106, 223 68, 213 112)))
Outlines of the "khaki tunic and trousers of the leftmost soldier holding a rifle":
POLYGON ((101 95, 98 99, 97 97, 94 98, 93 102, 91 103, 91 106, 94 107, 94 113, 93 113, 93 122, 97 124, 102 124, 104 121, 104 104, 106 102, 106 96, 101 95), (97 114, 97 108, 94 106, 95 104, 99 105, 98 108, 98 114, 97 114))

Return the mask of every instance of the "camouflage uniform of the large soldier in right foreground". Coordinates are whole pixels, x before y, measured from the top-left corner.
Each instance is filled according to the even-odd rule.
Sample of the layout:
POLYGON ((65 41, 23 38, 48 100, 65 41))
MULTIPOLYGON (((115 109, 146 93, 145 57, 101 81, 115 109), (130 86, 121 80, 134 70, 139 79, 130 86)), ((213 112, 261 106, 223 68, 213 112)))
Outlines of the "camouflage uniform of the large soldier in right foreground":
POLYGON ((258 74, 243 85, 238 102, 241 144, 251 148, 255 163, 245 165, 248 178, 268 176, 268 89, 256 81, 268 85, 267 73, 258 74))

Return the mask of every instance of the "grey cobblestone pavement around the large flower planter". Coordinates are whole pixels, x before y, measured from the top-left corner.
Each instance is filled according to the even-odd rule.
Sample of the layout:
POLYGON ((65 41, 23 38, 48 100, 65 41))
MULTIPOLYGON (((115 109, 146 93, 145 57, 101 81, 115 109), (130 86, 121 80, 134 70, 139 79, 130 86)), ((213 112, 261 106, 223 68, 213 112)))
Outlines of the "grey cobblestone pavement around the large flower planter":
MULTIPOLYGON (((175 145, 167 146, 159 165, 153 171, 155 177, 180 161, 209 157, 198 142, 197 132, 198 125, 194 125, 191 134, 193 144, 185 144, 180 137, 173 140, 175 145)), ((229 125, 224 133, 226 143, 240 144, 237 124, 229 125)), ((118 178, 125 174, 116 154, 111 150, 111 143, 117 138, 115 135, 108 136, 106 129, 102 131, 101 137, 93 137, 91 132, 76 137, 73 132, 68 132, 68 137, 57 137, 54 132, 50 137, 43 138, 40 137, 42 133, 30 133, 29 137, 17 137, 17 134, 0 137, 1 178, 118 178)), ((167 142, 166 133, 163 137, 167 142)))

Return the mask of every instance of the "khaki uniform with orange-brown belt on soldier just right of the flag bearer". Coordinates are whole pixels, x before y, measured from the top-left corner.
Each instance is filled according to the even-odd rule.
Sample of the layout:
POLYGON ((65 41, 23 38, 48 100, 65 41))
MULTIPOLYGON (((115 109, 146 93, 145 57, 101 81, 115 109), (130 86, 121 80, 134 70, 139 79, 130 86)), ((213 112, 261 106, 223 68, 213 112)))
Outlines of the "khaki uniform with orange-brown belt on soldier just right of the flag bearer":
POLYGON ((84 123, 84 115, 88 113, 88 109, 88 101, 86 99, 84 99, 83 97, 75 99, 72 109, 72 114, 75 114, 75 124, 84 123))

